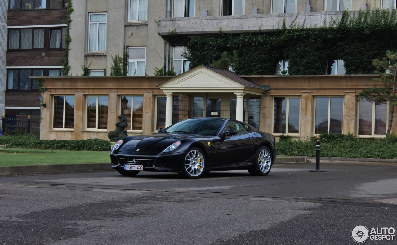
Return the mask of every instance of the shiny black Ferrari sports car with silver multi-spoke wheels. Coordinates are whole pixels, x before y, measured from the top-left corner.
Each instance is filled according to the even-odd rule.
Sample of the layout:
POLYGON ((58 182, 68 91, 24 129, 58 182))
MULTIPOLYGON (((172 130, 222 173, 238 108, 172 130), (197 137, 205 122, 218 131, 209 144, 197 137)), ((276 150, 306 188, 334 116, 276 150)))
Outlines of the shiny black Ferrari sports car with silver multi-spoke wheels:
POLYGON ((156 171, 195 179, 210 171, 241 169, 265 176, 276 159, 276 141, 236 120, 188 118, 155 135, 124 137, 110 159, 112 169, 128 176, 156 171))

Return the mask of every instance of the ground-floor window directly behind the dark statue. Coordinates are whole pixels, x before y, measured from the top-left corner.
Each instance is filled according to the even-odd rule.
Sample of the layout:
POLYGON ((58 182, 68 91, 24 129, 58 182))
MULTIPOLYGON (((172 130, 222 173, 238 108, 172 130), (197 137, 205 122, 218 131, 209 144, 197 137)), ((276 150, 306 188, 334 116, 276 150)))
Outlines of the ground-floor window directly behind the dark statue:
POLYGON ((128 119, 127 130, 142 130, 143 96, 122 96, 121 115, 128 119))

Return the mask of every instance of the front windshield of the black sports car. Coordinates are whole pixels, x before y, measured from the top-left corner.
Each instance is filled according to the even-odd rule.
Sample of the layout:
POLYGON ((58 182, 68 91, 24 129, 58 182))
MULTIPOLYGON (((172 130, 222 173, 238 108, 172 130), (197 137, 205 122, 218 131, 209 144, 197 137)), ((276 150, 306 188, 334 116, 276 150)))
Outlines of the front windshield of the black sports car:
POLYGON ((162 133, 197 133, 203 135, 216 135, 224 122, 220 118, 190 118, 177 122, 164 129, 162 133))

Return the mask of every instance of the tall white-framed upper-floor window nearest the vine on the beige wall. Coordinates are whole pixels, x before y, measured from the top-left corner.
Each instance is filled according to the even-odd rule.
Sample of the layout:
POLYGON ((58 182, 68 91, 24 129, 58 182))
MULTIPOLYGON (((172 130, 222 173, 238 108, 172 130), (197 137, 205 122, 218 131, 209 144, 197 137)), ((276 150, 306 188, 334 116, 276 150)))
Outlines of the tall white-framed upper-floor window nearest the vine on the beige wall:
POLYGON ((89 52, 106 51, 106 14, 89 14, 89 52))

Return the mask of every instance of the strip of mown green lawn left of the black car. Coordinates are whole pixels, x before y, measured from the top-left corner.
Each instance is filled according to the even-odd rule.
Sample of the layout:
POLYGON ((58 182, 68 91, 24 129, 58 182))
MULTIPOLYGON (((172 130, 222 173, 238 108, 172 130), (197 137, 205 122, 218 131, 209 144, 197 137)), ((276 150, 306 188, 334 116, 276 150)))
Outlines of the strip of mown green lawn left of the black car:
POLYGON ((108 151, 0 149, 0 166, 110 163, 108 151))

